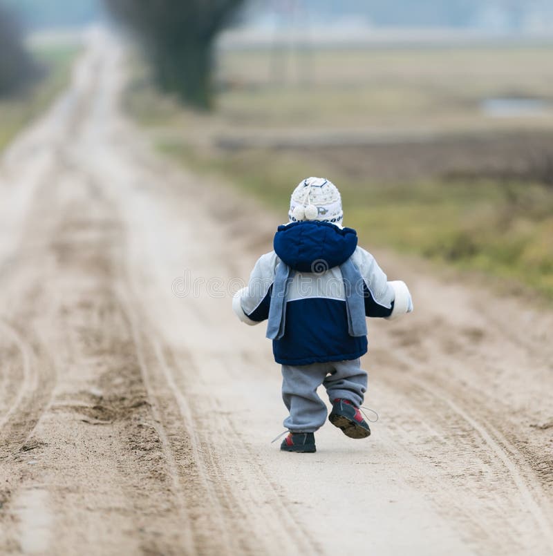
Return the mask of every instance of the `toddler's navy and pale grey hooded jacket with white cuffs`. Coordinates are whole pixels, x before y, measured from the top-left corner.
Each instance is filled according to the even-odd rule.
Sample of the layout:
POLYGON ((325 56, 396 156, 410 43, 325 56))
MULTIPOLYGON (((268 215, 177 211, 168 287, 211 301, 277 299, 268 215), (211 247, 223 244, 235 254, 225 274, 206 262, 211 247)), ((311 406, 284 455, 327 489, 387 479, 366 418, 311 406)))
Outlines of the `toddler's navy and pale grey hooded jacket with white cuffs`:
POLYGON ((274 358, 285 365, 362 356, 366 316, 393 318, 413 308, 404 283, 388 282, 357 246, 355 230, 317 221, 279 227, 274 251, 256 262, 233 307, 247 324, 268 320, 274 358))

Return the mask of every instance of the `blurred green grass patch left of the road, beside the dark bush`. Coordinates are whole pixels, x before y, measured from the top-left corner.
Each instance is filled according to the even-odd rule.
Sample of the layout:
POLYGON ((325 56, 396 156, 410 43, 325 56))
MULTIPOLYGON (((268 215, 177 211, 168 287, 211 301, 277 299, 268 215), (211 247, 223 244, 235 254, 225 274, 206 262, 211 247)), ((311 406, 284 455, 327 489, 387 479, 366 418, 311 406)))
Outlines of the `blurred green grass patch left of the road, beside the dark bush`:
POLYGON ((59 44, 33 48, 35 58, 44 67, 44 77, 35 86, 17 97, 0 100, 0 151, 35 119, 64 89, 71 77, 71 68, 79 46, 59 44))

